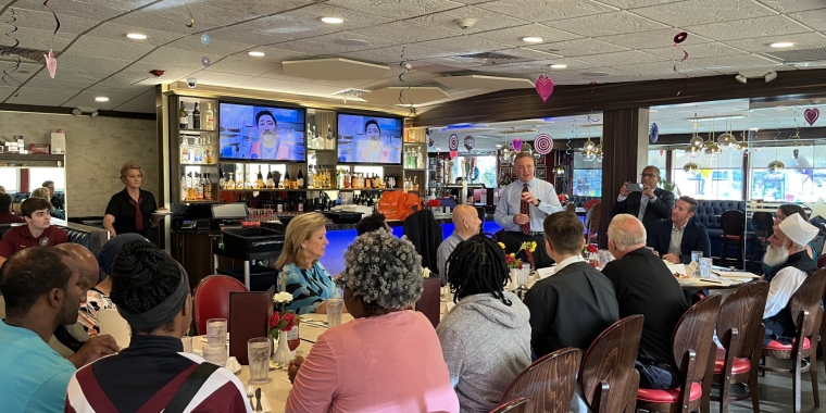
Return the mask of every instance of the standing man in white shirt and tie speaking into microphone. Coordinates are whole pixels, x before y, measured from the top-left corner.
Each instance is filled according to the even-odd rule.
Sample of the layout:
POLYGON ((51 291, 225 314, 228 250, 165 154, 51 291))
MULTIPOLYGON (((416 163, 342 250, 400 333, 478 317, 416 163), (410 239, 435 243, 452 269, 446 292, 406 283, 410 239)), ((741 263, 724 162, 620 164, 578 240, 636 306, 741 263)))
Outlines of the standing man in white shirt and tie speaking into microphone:
MULTIPOLYGON (((534 241, 543 246, 545 217, 562 211, 553 185, 534 176, 534 157, 527 152, 517 153, 513 167, 520 179, 504 187, 495 214, 495 221, 504 229, 502 242, 508 252, 518 250, 522 242, 534 241)), ((536 249, 534 260, 537 268, 553 263, 545 248, 536 249)))

